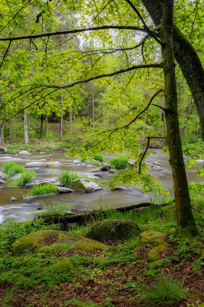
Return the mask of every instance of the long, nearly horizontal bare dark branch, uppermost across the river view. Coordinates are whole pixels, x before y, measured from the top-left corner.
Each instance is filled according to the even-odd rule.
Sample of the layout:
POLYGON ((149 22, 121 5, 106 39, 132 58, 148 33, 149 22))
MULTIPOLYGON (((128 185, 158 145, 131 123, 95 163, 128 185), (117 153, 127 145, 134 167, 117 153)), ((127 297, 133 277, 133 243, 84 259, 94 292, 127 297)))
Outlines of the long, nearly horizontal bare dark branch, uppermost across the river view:
POLYGON ((85 29, 74 29, 68 31, 58 31, 58 32, 51 32, 51 33, 43 33, 37 35, 28 35, 28 36, 19 36, 19 37, 5 37, 0 38, 0 41, 12 41, 12 40, 22 40, 22 39, 32 39, 32 38, 39 38, 45 36, 54 36, 54 35, 61 35, 61 34, 72 34, 72 33, 81 33, 81 32, 88 32, 88 31, 97 31, 97 30, 108 30, 108 29, 116 29, 116 30, 135 30, 145 32, 146 30, 140 27, 132 27, 132 26, 101 26, 101 27, 91 27, 85 29))

